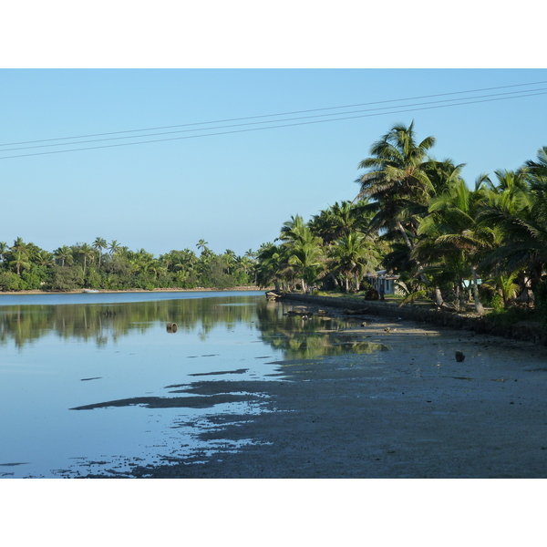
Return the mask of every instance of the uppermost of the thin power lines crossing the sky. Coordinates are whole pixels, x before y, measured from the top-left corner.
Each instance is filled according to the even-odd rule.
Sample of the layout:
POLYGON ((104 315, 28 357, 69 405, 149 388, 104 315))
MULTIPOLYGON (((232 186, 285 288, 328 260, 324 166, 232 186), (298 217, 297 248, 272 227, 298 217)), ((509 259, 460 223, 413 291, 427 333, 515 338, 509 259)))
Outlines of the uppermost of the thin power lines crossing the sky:
MULTIPOLYGON (((467 91, 452 91, 449 93, 437 93, 434 95, 422 95, 418 97, 410 97, 410 98, 393 98, 388 100, 379 100, 379 101, 372 101, 372 102, 366 102, 366 103, 357 103, 355 105, 344 105, 340 107, 326 107, 326 108, 311 108, 307 110, 294 110, 291 112, 281 112, 277 114, 263 114, 260 116, 248 116, 244 118, 232 118, 232 119, 217 119, 212 121, 200 121, 200 122, 194 122, 194 123, 186 123, 186 124, 179 124, 179 125, 172 125, 172 126, 161 126, 156 128, 146 128, 146 129, 129 129, 126 131, 111 131, 107 133, 91 133, 88 135, 77 135, 74 137, 58 137, 56 139, 38 139, 38 140, 24 140, 20 142, 7 142, 5 144, 0 144, 0 147, 4 146, 18 146, 20 144, 36 144, 38 142, 52 142, 54 140, 68 140, 68 139, 88 139, 90 137, 107 137, 108 135, 121 135, 122 133, 137 133, 141 131, 156 131, 160 129, 175 129, 175 128, 183 128, 183 127, 191 127, 191 126, 199 126, 199 125, 209 125, 212 123, 227 123, 231 121, 243 121, 245 119, 259 119, 259 118, 274 118, 278 116, 290 116, 294 114, 305 114, 308 112, 320 112, 325 110, 338 110, 341 108, 356 108, 356 107, 366 107, 371 105, 380 105, 380 104, 387 104, 387 103, 394 103, 394 102, 402 102, 402 101, 408 101, 408 100, 418 100, 420 98, 437 98, 437 97, 449 97, 450 95, 462 95, 465 93, 479 93, 481 91, 493 91, 496 89, 507 89, 507 88, 522 88, 526 86, 537 86, 540 84, 547 84, 547 81, 539 81, 539 82, 530 82, 527 84, 512 84, 511 86, 497 86, 494 88, 479 88, 479 89, 468 89, 467 91)), ((533 91, 534 89, 529 89, 528 91, 533 91)), ((207 129, 207 128, 206 128, 207 129)), ((68 143, 69 144, 69 143, 68 143)))

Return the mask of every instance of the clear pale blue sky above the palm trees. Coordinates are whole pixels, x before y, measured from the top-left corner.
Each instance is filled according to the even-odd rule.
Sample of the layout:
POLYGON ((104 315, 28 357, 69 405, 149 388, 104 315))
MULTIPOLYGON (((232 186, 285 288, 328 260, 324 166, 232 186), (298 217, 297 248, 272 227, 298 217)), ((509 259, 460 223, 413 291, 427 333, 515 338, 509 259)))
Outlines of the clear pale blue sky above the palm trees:
MULTIPOLYGON (((4 69, 0 71, 0 143, 542 81, 547 82, 544 69, 4 69)), ((434 135, 437 144, 432 154, 439 160, 466 163, 464 177, 470 184, 482 172, 512 170, 524 160, 534 159, 536 151, 547 144, 543 115, 547 96, 522 97, 528 89, 545 93, 547 83, 298 115, 341 112, 332 118, 352 118, 377 113, 356 110, 389 108, 380 111, 381 115, 364 118, 2 159, 5 207, 0 240, 11 244, 21 236, 53 251, 62 244, 92 243, 100 236, 159 256, 171 249, 195 250, 203 238, 217 253, 229 248, 243 254, 274 241, 291 215, 300 214, 307 220, 335 201, 354 199, 358 162, 368 155, 372 143, 398 122, 408 124, 414 119, 418 139, 434 135), (518 92, 520 98, 486 97, 511 92, 518 92), (448 104, 432 101, 470 97, 486 101, 399 111, 410 104, 428 108, 448 104)), ((211 127, 219 125, 231 124, 211 127)), ((258 126, 209 132, 253 127, 258 126)), ((193 128, 163 131, 177 129, 193 128)), ((12 151, 4 150, 31 145, 3 146, 0 158, 128 141, 12 151)), ((48 143, 35 146, 43 144, 48 143)))

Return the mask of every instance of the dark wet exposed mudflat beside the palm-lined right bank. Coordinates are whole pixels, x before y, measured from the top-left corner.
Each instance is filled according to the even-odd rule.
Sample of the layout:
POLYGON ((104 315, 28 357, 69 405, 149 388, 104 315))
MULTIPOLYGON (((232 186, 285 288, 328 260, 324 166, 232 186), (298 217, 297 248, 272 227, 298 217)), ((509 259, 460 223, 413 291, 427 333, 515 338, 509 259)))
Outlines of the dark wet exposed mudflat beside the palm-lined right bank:
POLYGON ((133 476, 547 477, 547 348, 412 322, 356 323, 345 332, 385 351, 282 362, 270 381, 181 387, 177 394, 200 398, 267 397, 262 414, 212 414, 214 427, 201 433, 254 444, 133 476))

